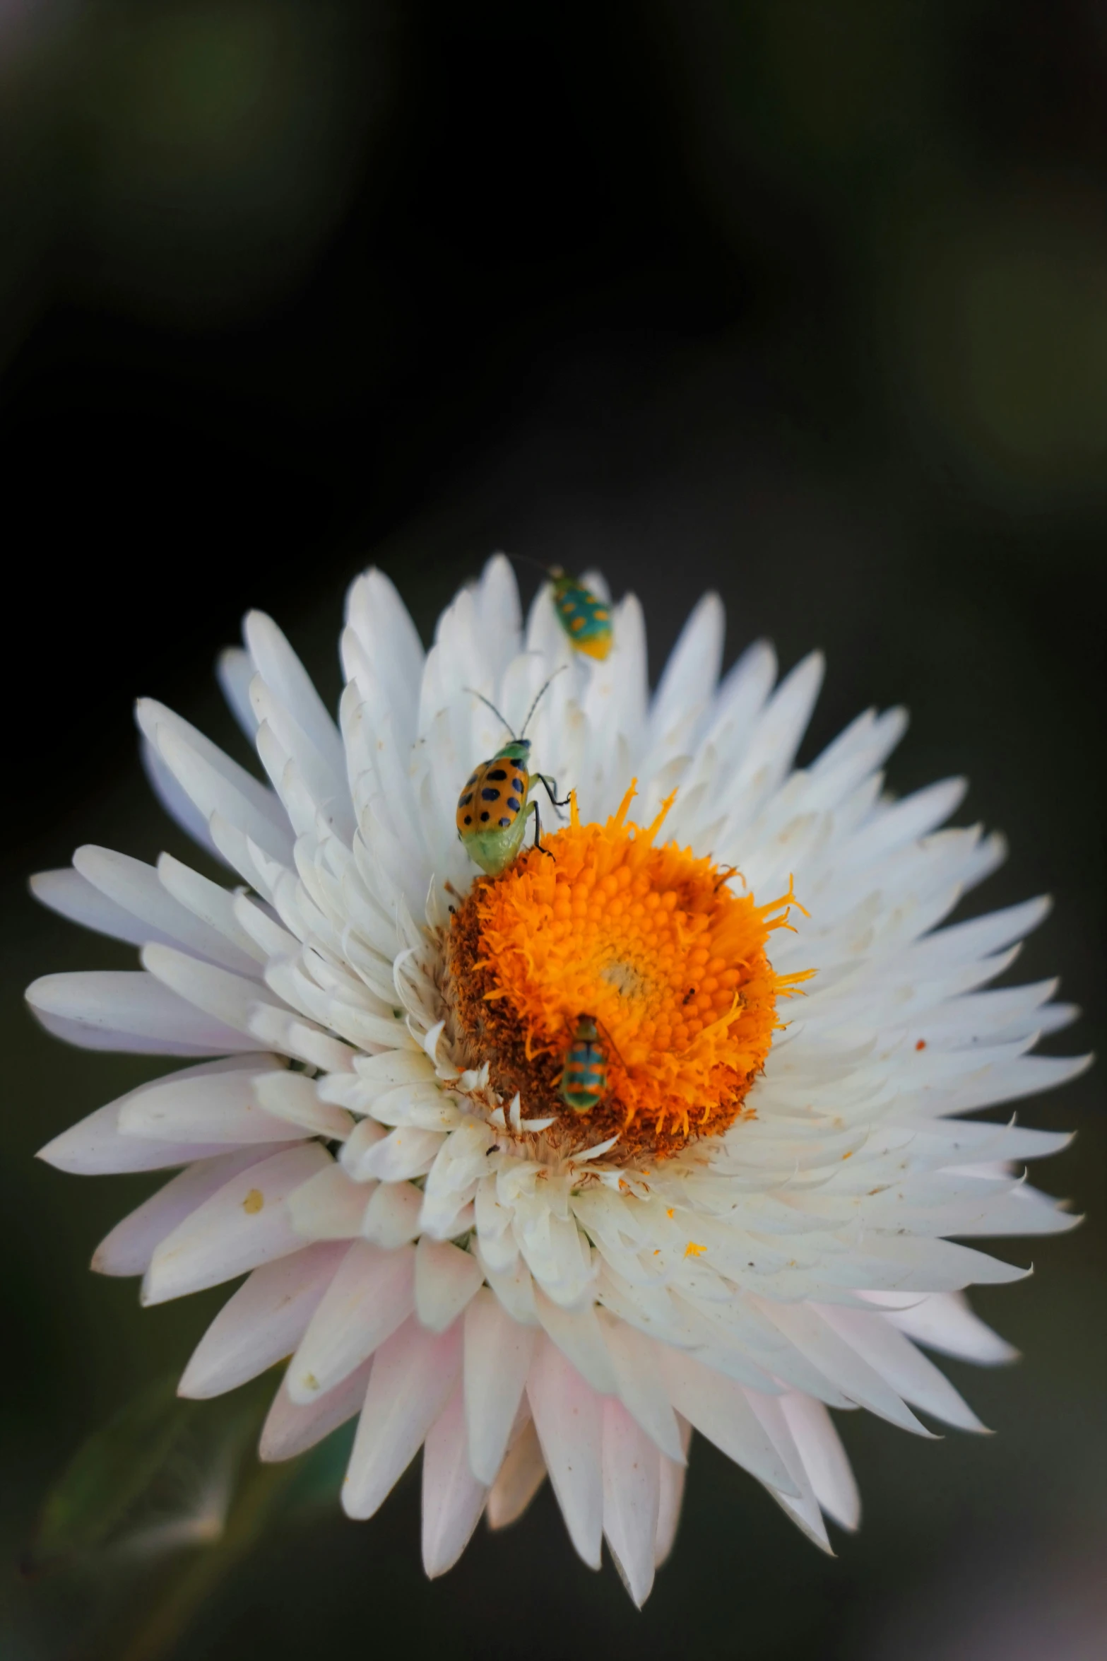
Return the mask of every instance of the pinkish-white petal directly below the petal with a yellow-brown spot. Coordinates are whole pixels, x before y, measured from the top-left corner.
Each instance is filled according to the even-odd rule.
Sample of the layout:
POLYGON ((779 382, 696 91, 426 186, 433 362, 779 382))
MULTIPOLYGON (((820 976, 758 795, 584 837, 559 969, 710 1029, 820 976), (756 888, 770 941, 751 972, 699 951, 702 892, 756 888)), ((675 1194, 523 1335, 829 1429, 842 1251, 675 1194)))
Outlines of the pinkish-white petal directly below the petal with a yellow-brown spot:
POLYGON ((342 1254, 342 1246, 305 1246, 254 1269, 193 1350, 178 1395, 221 1395, 290 1355, 342 1254))

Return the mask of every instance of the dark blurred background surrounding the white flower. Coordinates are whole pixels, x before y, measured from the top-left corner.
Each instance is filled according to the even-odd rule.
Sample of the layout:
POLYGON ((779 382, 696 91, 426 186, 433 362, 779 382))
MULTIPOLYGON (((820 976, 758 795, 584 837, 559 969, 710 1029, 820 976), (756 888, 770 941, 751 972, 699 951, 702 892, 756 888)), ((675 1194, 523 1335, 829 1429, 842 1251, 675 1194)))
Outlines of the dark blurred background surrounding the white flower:
MULTIPOLYGON (((496 546, 601 565, 654 671, 719 588, 730 654, 828 649, 805 754, 903 699, 891 786, 971 774, 963 822, 1012 840, 984 900, 1057 897, 1019 978, 1061 972, 1102 1048, 1105 186, 1092 0, 0 5, 5 1658, 93 1653, 86 1588, 15 1563, 221 1302, 141 1314, 86 1274, 154 1178, 32 1163, 158 1068, 25 1017, 35 975, 131 953, 23 884, 86 840, 186 852, 131 699, 234 744, 209 671, 247 606, 334 696, 370 560, 425 635, 496 546)), ((697 1442, 644 1614, 548 1493, 427 1586, 408 1477, 368 1525, 266 1540, 176 1654, 1102 1656, 1100 1081, 1019 1116, 1080 1131, 1041 1176, 1090 1221, 978 1297, 1026 1354, 949 1367, 997 1437, 846 1417, 836 1561, 697 1442)))

